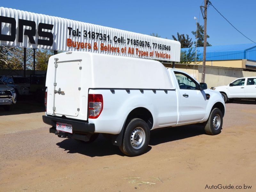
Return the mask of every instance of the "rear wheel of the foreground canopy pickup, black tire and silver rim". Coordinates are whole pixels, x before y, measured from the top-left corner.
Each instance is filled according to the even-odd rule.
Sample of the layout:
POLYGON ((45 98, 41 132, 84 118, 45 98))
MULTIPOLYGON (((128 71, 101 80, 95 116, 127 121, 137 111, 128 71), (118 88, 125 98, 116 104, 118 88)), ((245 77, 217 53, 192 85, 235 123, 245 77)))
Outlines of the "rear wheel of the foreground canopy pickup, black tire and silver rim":
POLYGON ((142 119, 132 119, 127 125, 120 150, 127 156, 138 156, 146 152, 150 139, 148 124, 142 119))

